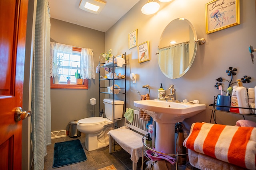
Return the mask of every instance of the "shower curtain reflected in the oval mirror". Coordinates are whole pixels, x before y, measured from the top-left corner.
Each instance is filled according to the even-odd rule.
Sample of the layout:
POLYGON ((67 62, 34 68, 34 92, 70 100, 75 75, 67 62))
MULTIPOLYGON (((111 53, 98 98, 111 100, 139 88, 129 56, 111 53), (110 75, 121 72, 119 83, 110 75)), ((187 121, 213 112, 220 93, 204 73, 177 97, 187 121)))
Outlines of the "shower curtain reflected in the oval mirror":
POLYGON ((168 76, 177 77, 182 74, 189 65, 189 44, 181 43, 160 49, 158 60, 163 72, 168 76))

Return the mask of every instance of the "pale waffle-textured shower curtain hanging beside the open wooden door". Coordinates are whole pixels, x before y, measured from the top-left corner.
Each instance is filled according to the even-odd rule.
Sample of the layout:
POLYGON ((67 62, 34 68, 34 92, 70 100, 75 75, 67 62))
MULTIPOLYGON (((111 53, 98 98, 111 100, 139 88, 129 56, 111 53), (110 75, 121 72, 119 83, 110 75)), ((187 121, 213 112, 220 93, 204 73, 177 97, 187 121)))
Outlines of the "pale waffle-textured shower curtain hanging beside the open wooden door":
POLYGON ((46 145, 51 143, 50 9, 48 0, 37 1, 34 41, 31 141, 34 170, 43 170, 46 145))

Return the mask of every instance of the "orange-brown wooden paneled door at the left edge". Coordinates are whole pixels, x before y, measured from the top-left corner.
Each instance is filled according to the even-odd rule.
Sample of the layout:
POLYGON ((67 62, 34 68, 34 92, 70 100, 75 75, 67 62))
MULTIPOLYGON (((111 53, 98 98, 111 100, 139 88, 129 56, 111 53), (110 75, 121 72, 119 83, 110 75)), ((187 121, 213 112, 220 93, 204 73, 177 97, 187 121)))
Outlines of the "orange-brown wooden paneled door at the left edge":
POLYGON ((28 0, 0 0, 0 169, 21 170, 22 107, 28 0))

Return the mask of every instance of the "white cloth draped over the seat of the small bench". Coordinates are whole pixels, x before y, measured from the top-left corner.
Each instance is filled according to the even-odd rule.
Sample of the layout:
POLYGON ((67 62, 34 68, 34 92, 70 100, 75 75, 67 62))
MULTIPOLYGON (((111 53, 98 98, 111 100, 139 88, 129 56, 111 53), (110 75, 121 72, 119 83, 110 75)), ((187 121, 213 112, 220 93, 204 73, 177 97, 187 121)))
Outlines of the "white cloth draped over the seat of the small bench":
POLYGON ((108 135, 111 135, 126 152, 131 154, 133 162, 137 163, 139 158, 142 157, 142 135, 130 130, 126 126, 111 130, 108 132, 108 135))

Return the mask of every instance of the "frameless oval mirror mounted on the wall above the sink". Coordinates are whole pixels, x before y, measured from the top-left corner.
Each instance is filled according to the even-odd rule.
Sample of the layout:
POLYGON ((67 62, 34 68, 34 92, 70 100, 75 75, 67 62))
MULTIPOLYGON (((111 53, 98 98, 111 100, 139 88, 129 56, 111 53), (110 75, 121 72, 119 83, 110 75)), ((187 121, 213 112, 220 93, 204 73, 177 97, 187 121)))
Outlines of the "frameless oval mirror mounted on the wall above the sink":
POLYGON ((158 46, 158 65, 171 79, 183 76, 196 56, 196 30, 190 21, 178 18, 164 29, 158 46))

